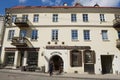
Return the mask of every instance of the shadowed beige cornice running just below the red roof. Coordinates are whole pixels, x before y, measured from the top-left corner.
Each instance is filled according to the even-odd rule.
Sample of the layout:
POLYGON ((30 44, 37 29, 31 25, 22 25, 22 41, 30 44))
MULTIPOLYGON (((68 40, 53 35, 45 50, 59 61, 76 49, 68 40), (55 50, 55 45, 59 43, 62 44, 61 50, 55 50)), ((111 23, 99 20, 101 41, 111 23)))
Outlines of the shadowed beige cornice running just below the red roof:
POLYGON ((7 9, 10 13, 119 13, 120 8, 95 8, 95 7, 36 7, 36 8, 9 8, 7 9))

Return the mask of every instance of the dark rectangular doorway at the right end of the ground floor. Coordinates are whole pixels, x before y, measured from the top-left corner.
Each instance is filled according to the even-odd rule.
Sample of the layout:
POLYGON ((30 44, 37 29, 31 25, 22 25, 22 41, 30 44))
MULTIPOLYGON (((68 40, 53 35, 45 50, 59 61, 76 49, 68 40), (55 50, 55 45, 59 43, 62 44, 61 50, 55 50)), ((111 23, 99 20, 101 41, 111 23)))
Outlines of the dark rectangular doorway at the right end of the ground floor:
POLYGON ((113 73, 112 61, 113 55, 101 55, 102 74, 113 73))

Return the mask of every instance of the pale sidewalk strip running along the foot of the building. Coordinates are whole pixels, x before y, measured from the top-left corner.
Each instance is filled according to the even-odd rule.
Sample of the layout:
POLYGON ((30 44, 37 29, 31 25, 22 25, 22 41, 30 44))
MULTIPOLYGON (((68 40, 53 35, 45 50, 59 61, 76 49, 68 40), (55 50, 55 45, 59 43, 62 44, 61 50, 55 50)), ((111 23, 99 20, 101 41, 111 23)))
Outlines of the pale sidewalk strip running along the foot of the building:
MULTIPOLYGON (((11 69, 0 69, 0 72, 49 77, 48 73, 41 73, 41 72, 24 72, 24 71, 21 71, 21 70, 11 70, 11 69)), ((98 75, 97 74, 97 75, 95 75, 95 74, 73 74, 73 73, 55 74, 54 73, 53 77, 77 78, 77 79, 120 80, 120 75, 114 75, 114 74, 105 74, 105 75, 100 75, 100 74, 98 75)))

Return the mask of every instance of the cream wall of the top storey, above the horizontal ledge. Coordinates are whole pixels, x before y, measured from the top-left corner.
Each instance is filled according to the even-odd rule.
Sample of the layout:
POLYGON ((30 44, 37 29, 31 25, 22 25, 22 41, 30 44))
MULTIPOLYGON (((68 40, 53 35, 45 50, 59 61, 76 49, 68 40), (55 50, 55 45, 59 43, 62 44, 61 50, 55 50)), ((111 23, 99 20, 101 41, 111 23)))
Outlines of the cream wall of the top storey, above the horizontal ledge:
POLYGON ((100 13, 54 13, 58 14, 58 22, 52 22, 53 13, 24 13, 24 14, 13 14, 17 17, 22 15, 28 15, 30 22, 33 25, 112 25, 114 14, 106 14, 105 22, 100 22, 100 13), (34 14, 39 14, 39 22, 33 22, 34 14), (71 14, 77 14, 77 22, 71 22, 71 14), (82 14, 88 14, 88 22, 83 22, 82 14))

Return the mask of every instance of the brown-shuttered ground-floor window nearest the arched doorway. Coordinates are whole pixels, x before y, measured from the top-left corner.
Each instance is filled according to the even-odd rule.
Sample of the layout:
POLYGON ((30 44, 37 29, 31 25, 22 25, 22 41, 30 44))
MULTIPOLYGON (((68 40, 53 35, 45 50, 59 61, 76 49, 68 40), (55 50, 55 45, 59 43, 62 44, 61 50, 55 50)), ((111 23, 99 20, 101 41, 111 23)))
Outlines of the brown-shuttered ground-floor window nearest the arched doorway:
POLYGON ((70 63, 71 63, 71 67, 82 66, 82 54, 80 51, 72 50, 70 52, 70 63))

